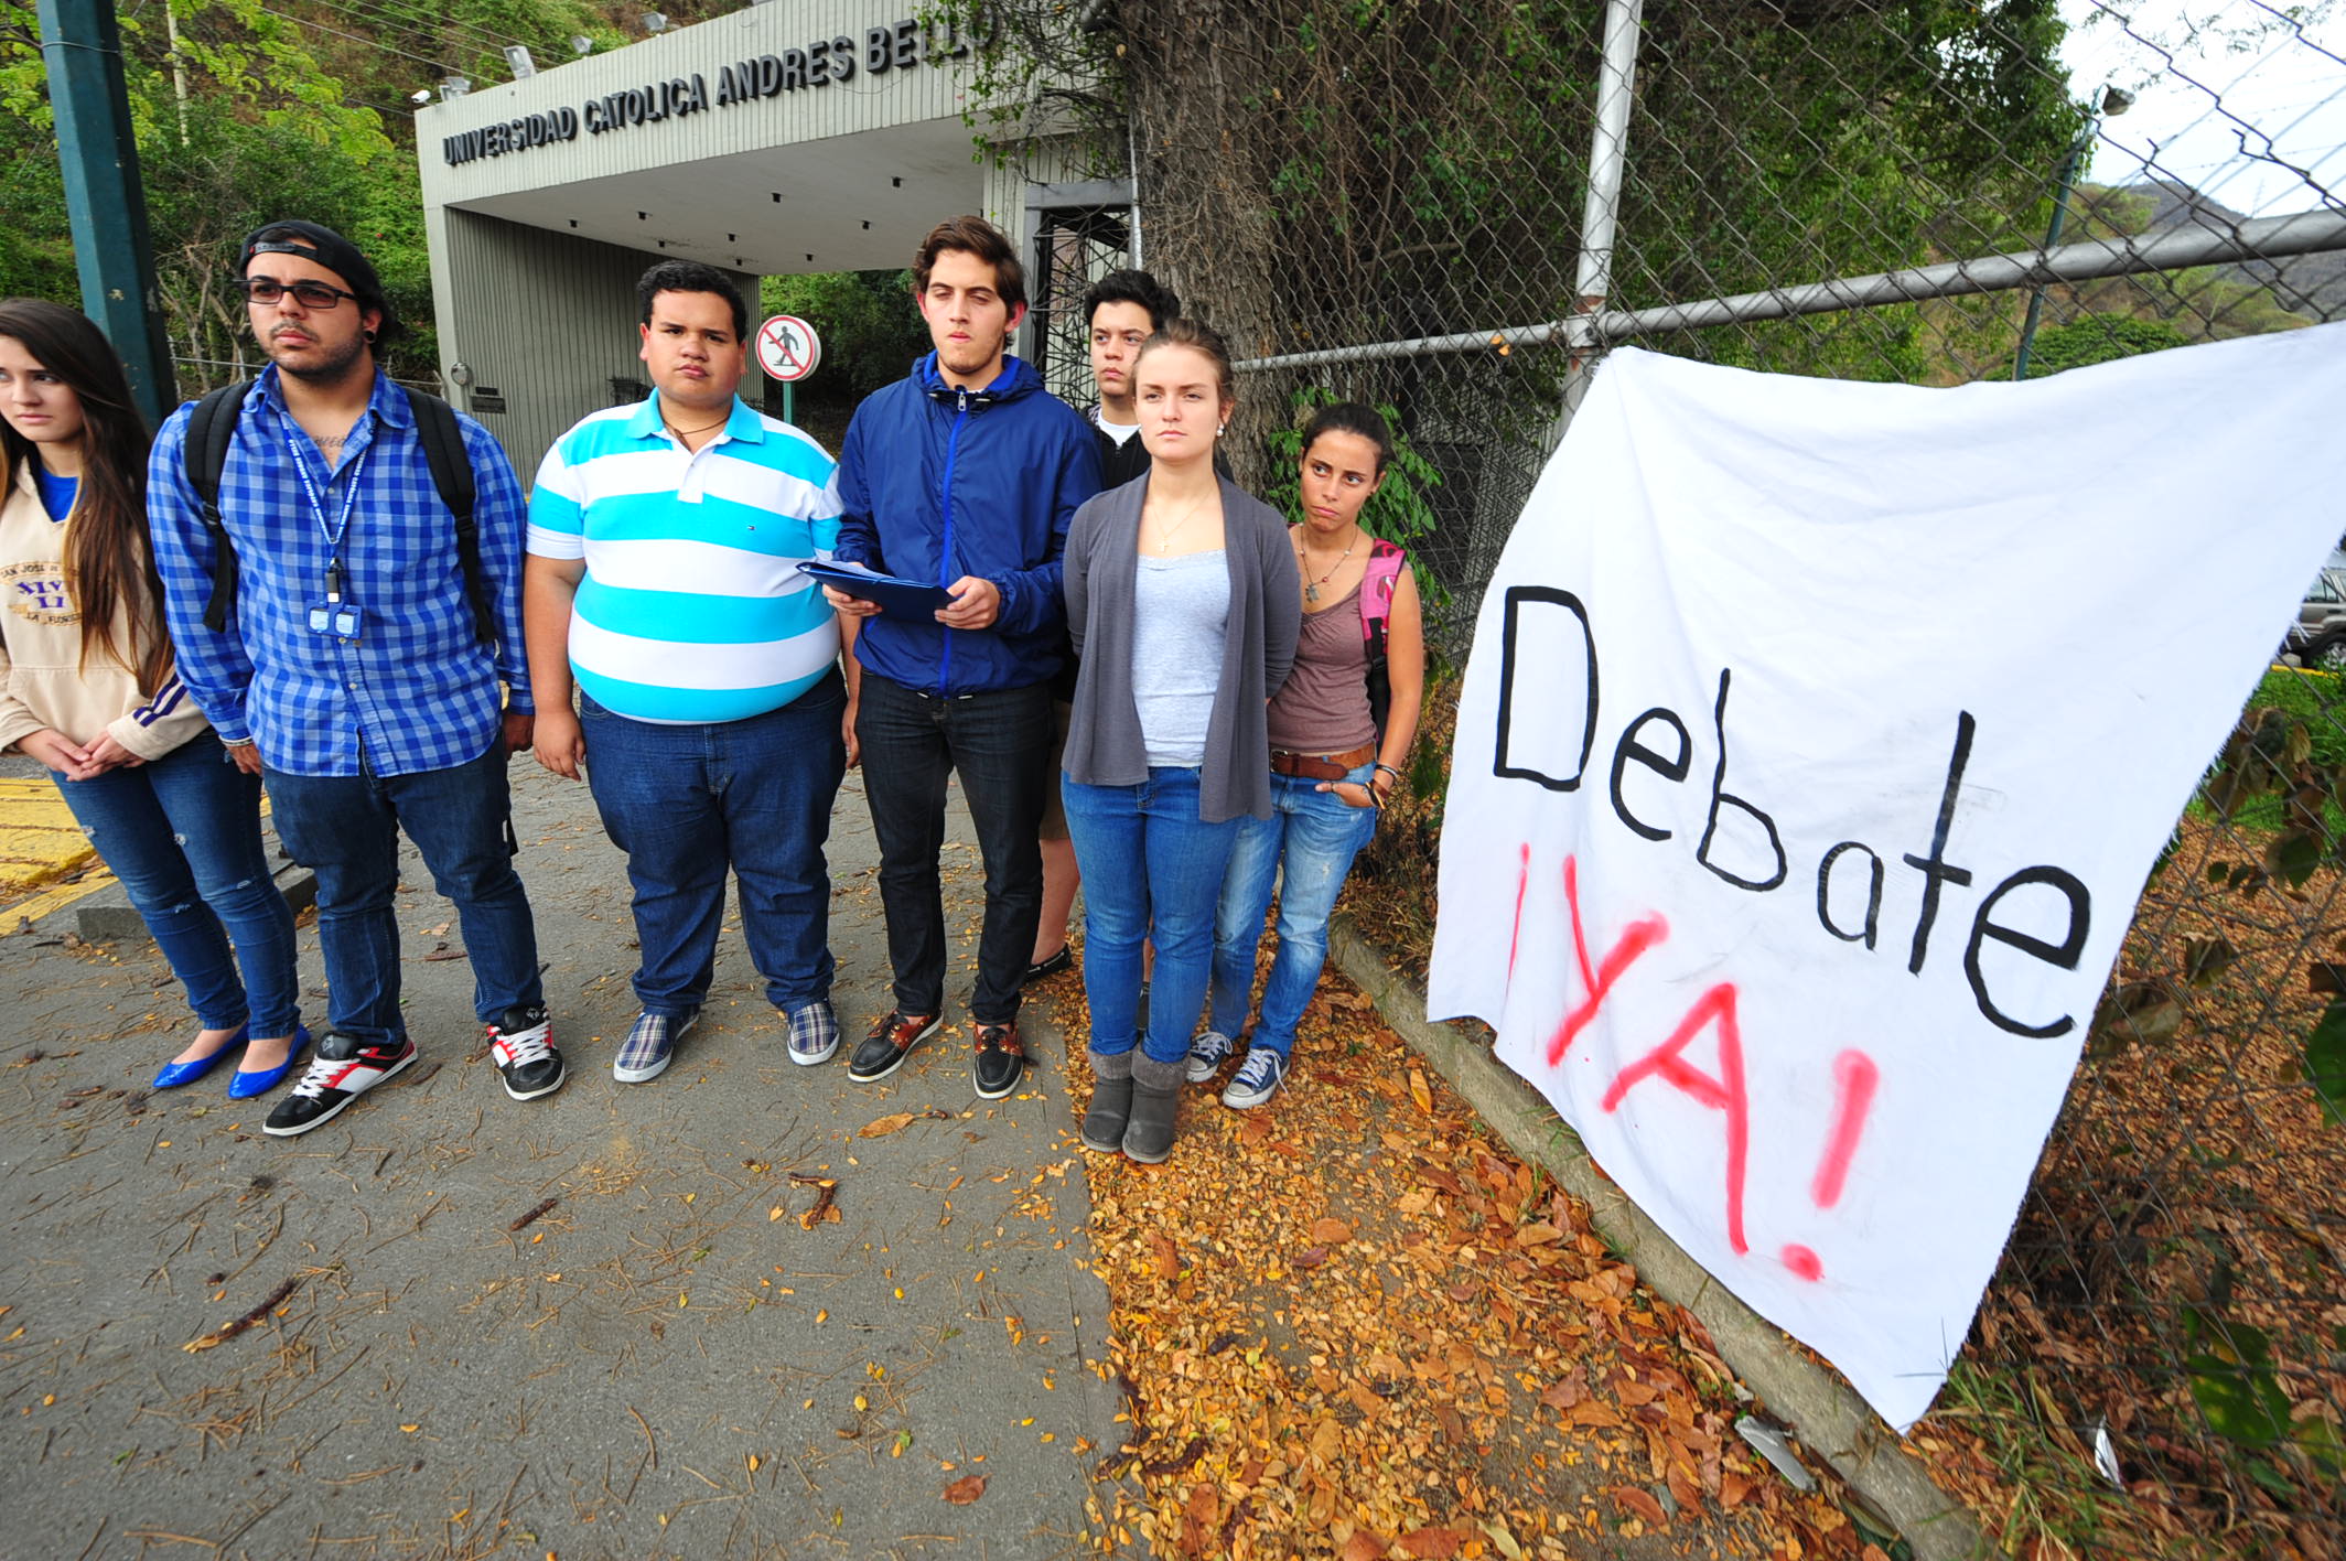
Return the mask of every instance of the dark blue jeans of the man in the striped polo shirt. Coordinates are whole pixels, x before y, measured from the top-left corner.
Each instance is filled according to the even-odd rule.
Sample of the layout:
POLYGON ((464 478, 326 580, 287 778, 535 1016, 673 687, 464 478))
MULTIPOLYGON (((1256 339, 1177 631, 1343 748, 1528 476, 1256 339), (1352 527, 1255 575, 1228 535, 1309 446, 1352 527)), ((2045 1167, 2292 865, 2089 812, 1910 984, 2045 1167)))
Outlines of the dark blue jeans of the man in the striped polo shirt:
POLYGON ((636 1002, 676 1019, 708 998, 725 869, 741 883, 741 937, 767 1000, 830 995, 830 803, 847 775, 838 671, 746 721, 659 725, 579 697, 586 784, 636 890, 636 1002))

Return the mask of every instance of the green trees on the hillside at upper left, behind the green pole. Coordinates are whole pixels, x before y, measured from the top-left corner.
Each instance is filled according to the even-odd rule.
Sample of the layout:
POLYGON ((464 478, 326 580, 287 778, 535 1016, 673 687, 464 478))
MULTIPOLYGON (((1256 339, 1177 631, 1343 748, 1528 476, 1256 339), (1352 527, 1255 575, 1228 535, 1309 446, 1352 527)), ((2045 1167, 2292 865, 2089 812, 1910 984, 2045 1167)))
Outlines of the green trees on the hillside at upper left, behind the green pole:
MULTIPOLYGON (((540 63, 570 38, 617 47, 643 7, 598 0, 162 0, 120 7, 124 77, 181 394, 251 373, 256 350, 228 291, 235 244, 274 216, 326 223, 375 261, 411 333, 389 369, 436 366, 411 94, 446 75, 502 80, 507 42, 540 63), (176 45, 174 45, 176 33, 176 45)), ((673 21, 718 7, 669 0, 673 21)), ((63 183, 26 0, 0 0, 0 293, 80 305, 63 183)))

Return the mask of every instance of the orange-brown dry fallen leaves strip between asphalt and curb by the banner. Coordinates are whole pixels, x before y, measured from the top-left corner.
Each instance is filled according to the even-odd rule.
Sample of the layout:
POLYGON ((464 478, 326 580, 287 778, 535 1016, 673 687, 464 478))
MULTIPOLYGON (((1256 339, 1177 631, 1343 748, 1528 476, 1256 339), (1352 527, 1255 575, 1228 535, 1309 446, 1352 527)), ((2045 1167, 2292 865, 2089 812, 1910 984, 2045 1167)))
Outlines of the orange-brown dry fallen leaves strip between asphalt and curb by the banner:
MULTIPOLYGON (((1694 1554, 1858 1561, 1832 1495, 1792 1493, 1734 1437, 1701 1324, 1333 972, 1323 998, 1272 1106, 1189 1096, 1171 1176, 1093 1162, 1100 1371, 1128 1411, 1103 1476, 1140 1486, 1093 1545, 1659 1561, 1694 1535, 1694 1554)), ((1058 1016, 1084 1033, 1082 998, 1058 1016)))

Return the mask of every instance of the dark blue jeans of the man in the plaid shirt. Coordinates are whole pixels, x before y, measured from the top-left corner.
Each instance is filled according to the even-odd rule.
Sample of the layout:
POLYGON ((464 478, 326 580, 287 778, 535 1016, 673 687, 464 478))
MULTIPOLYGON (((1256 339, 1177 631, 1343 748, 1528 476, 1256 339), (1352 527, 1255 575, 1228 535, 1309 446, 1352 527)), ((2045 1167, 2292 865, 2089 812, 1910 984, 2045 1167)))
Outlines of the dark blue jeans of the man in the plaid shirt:
POLYGON ((537 927, 514 873, 504 742, 448 770, 415 775, 284 775, 265 770, 277 838, 317 871, 317 941, 326 955, 326 1023, 366 1045, 408 1035, 399 1012, 399 831, 432 885, 455 904, 472 958, 472 1009, 493 1023, 547 1000, 537 927))

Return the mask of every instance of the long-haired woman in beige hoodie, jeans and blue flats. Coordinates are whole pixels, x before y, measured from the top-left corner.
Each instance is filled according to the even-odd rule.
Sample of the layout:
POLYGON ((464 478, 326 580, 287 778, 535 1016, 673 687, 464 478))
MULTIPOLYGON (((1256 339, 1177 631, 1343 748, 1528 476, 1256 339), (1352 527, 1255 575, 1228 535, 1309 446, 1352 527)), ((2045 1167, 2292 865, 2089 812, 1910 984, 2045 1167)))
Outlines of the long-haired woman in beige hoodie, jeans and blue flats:
POLYGON ((307 1040, 293 915, 260 845, 260 779, 171 669, 145 458, 99 329, 54 303, 0 303, 0 751, 47 765, 188 988, 199 1033, 155 1087, 242 1045, 228 1094, 246 1099, 307 1040))

